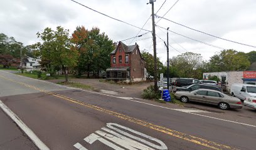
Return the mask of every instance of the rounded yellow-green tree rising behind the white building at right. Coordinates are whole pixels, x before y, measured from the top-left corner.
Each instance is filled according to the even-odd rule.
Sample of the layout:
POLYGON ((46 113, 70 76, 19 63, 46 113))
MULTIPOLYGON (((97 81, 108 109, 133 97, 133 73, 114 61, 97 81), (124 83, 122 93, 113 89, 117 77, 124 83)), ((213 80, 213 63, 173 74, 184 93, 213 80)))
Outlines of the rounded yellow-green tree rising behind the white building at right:
POLYGON ((223 50, 210 58, 211 72, 246 70, 250 66, 247 54, 233 49, 223 50))

